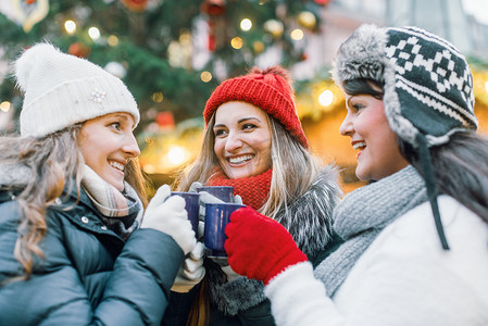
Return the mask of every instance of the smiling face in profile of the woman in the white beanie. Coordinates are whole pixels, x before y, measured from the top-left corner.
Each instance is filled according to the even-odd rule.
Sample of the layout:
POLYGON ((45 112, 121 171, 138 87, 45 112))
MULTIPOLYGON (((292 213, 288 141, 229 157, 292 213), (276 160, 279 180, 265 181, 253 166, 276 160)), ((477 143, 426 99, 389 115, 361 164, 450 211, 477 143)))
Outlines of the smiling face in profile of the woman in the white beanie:
POLYGON ((130 114, 111 113, 85 122, 78 137, 85 163, 120 191, 124 190, 127 161, 140 154, 134 125, 130 114))

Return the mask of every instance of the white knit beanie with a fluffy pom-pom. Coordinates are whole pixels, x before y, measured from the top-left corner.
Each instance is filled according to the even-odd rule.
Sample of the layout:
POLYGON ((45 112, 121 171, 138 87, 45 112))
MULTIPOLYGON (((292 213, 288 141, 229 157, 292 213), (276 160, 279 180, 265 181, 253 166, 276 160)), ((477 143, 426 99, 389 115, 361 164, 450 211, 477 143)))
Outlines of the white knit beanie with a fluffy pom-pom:
POLYGON ((49 43, 27 49, 15 62, 24 91, 21 135, 42 137, 70 125, 114 112, 139 123, 137 103, 117 77, 49 43))

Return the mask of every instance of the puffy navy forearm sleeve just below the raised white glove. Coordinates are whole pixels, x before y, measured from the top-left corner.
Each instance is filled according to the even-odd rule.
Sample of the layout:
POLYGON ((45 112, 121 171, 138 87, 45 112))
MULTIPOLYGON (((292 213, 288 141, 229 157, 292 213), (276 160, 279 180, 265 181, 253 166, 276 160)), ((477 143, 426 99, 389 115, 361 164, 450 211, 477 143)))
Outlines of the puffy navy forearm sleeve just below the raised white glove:
POLYGON ((182 263, 183 251, 170 236, 153 229, 135 231, 115 261, 95 321, 159 325, 182 263))

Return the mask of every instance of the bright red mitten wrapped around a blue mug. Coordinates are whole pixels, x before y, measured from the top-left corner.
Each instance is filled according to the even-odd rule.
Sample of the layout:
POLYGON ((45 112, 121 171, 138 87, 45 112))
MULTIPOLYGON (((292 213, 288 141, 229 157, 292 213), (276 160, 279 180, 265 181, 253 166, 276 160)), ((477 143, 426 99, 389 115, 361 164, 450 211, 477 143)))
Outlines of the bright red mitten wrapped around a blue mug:
POLYGON ((281 224, 250 206, 230 215, 225 234, 230 267, 248 278, 264 281, 264 285, 288 266, 308 260, 281 224))

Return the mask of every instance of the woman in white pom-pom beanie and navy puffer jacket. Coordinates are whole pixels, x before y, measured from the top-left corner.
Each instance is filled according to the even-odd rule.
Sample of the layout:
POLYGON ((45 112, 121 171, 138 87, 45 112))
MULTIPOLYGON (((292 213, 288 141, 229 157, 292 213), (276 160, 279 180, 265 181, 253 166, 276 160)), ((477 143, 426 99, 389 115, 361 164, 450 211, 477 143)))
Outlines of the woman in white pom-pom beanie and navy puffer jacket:
POLYGON ((133 95, 49 43, 24 51, 15 77, 21 136, 0 137, 0 325, 158 325, 197 240, 170 186, 145 211, 133 95))

